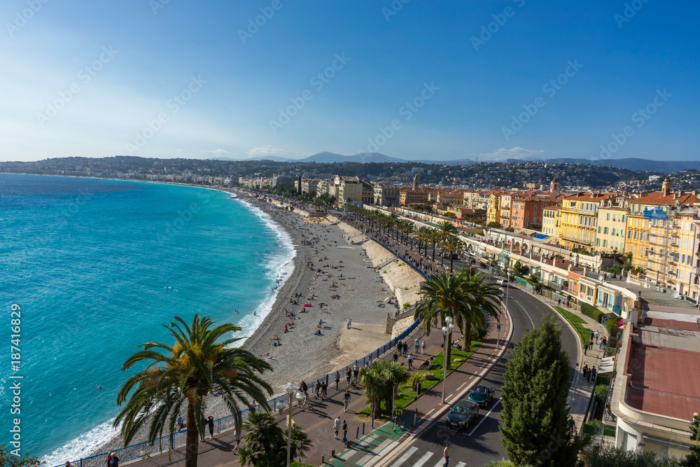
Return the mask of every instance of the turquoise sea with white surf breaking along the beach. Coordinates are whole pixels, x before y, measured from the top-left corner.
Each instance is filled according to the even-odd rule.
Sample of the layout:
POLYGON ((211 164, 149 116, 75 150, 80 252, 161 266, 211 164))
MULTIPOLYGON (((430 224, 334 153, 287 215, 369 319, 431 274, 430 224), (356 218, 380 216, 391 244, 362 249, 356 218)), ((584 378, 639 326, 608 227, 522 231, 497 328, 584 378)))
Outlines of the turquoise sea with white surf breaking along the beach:
POLYGON ((228 193, 186 186, 0 174, 0 443, 49 465, 111 438, 125 359, 195 313, 251 335, 293 270, 288 235, 228 193), (21 307, 20 368, 10 307, 21 307), (239 313, 235 312, 239 310, 239 313), (253 316, 256 312, 257 316, 253 316), (21 375, 10 416, 10 375, 21 375), (102 389, 97 389, 97 385, 102 389))

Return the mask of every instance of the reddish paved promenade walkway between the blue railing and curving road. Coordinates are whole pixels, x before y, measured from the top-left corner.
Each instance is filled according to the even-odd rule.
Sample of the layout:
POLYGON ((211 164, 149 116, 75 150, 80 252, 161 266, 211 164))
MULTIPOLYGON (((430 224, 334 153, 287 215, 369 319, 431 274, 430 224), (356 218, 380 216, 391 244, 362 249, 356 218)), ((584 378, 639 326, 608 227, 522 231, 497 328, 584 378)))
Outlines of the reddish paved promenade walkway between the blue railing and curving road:
MULTIPOLYGON (((295 403, 292 410, 292 420, 307 432, 313 446, 307 452, 304 462, 312 465, 321 465, 321 456, 326 462, 332 461, 331 450, 335 449, 338 459, 332 461, 332 465, 356 465, 372 467, 379 459, 385 459, 387 455, 400 447, 400 443, 417 435, 425 429, 433 419, 441 417, 451 403, 454 403, 477 384, 488 372, 492 365, 498 361, 507 347, 507 342, 512 335, 512 320, 510 315, 501 319, 500 341, 497 342, 496 323, 489 325, 486 340, 479 346, 470 358, 456 368, 444 381, 444 399, 442 404, 442 383, 438 383, 425 393, 421 394, 416 403, 413 402, 404 407, 401 421, 393 426, 386 421, 374 421, 370 417, 359 417, 358 414, 367 407, 361 388, 347 388, 345 380, 335 389, 335 382, 328 388, 328 398, 314 398, 311 395, 307 410, 302 411, 295 403), (345 412, 342 402, 344 392, 349 390, 351 402, 345 412), (348 438, 352 441, 350 449, 347 449, 341 439, 335 439, 332 428, 335 417, 345 419, 349 425, 348 438), (414 420, 416 423, 414 423, 414 420), (365 434, 367 433, 367 434, 365 434)), ((414 354, 412 372, 419 370, 423 361, 429 356, 435 356, 442 351, 444 339, 440 329, 433 329, 429 336, 424 335, 423 327, 419 326, 412 335, 407 337, 409 353, 414 350, 413 342, 418 337, 426 340, 426 354, 414 354)), ((458 330, 453 331, 453 340, 461 338, 458 330)), ((383 360, 393 358, 393 349, 380 357, 383 360)), ((400 356, 399 361, 406 364, 407 357, 400 356)), ((276 412, 278 424, 286 431, 286 416, 276 412)), ((342 435, 342 433, 341 433, 342 435)), ((241 435, 243 438, 243 435, 241 435)), ((339 435, 340 438, 340 435, 339 435)), ((202 466, 239 466, 239 456, 232 454, 235 446, 234 431, 229 430, 217 433, 213 439, 207 438, 200 442, 199 463, 202 466)), ((241 442, 242 444, 242 442, 241 442)), ((130 463, 136 467, 172 466, 184 467, 185 447, 173 449, 170 453, 158 454, 148 459, 130 463)))

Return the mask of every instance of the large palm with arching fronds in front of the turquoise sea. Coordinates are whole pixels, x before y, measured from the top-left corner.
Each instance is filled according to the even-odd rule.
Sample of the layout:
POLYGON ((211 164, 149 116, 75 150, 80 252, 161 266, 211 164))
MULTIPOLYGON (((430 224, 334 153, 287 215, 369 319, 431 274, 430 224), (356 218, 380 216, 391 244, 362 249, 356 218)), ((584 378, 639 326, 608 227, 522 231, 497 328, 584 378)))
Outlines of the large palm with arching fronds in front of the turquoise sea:
POLYGON ((272 370, 272 367, 247 350, 231 347, 242 337, 216 342, 225 334, 239 332, 241 328, 238 326, 227 323, 210 329, 214 321, 209 316, 200 319, 197 314, 190 326, 179 316, 174 321, 169 326, 164 325, 175 338, 172 346, 160 342, 141 344, 139 347, 143 349, 127 358, 122 366, 122 371, 125 371, 135 363, 151 361, 146 368, 127 379, 120 389, 117 405, 125 402, 126 405, 114 420, 114 426, 123 423, 125 445, 149 420, 150 442, 162 436, 164 431, 172 440, 176 419, 186 405, 185 465, 196 467, 197 447, 200 433, 204 433, 207 407, 204 396, 219 393, 240 426, 240 410, 248 405, 248 398, 269 410, 266 394, 272 394, 272 386, 260 374, 272 370), (127 401, 132 389, 134 392, 127 401))

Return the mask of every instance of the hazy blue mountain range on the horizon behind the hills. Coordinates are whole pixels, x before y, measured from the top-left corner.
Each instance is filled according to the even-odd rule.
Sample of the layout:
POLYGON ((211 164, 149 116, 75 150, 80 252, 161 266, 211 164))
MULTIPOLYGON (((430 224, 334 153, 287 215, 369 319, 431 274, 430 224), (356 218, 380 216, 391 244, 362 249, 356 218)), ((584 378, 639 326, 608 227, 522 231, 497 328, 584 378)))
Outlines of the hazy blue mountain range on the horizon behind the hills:
MULTIPOLYGON (((233 158, 211 158, 211 160, 241 160, 233 158)), ((406 160, 399 158, 392 158, 388 155, 381 153, 360 153, 355 155, 342 155, 336 153, 323 152, 314 155, 309 155, 307 158, 303 159, 290 159, 282 158, 279 155, 262 155, 255 158, 247 158, 243 160, 273 160, 275 162, 317 162, 318 164, 334 164, 342 162, 355 162, 355 163, 368 163, 368 162, 421 162, 423 164, 438 164, 438 165, 470 165, 474 164, 475 161, 471 159, 459 159, 459 160, 427 160, 427 159, 416 159, 416 160, 406 160)), ((489 161, 481 161, 489 162, 489 161)), ((503 162, 503 161, 496 161, 503 162)), ((649 160, 649 159, 638 159, 638 158, 628 158, 628 159, 605 159, 605 160, 589 160, 589 159, 566 159, 566 158, 555 158, 555 159, 540 159, 540 158, 528 158, 528 159, 508 159, 505 162, 550 162, 552 164, 591 164, 591 165, 603 165, 612 167, 618 167, 620 169, 630 169, 630 170, 651 170, 654 172, 680 172, 686 169, 697 169, 700 170, 700 160, 649 160)))

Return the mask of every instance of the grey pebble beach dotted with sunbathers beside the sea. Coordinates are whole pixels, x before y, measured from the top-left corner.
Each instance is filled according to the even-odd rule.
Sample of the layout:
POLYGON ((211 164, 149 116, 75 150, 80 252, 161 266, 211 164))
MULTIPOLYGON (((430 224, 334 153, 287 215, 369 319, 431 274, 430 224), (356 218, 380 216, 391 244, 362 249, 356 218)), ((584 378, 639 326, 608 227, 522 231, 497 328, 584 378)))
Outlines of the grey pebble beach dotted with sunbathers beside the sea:
MULTIPOLYGON (((325 219, 309 223, 300 214, 262 200, 246 198, 242 202, 272 216, 289 233, 297 253, 294 272, 281 287, 272 311, 244 344, 272 363, 273 371, 264 377, 274 395, 283 393, 287 382, 298 384, 304 379, 311 384, 390 340, 391 335, 385 333, 386 316, 387 312, 393 314, 395 307, 385 300, 392 296, 391 289, 379 272, 367 267, 363 246, 349 244, 343 237, 345 232, 325 219), (303 307, 304 303, 311 306, 303 307), (287 312, 294 316, 286 316, 287 312), (317 330, 320 335, 316 335, 317 330), (276 336, 279 346, 274 346, 276 336)), ((230 414, 217 397, 207 400, 206 412, 215 419, 230 414)), ((139 433, 132 444, 145 440, 146 433, 139 433)), ((118 436, 92 454, 120 447, 123 442, 118 436)))

